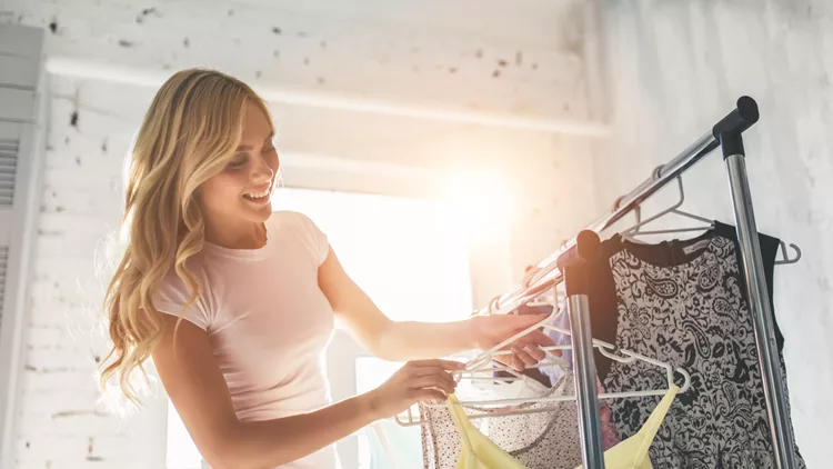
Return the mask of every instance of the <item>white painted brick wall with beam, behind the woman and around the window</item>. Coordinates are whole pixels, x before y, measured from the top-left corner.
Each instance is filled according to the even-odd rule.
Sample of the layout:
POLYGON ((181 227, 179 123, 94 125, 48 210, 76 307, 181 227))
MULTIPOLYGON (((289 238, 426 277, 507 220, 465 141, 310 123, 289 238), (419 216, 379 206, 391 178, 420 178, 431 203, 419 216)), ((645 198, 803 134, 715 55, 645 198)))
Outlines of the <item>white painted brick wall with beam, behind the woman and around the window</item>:
MULTIPOLYGON (((177 69, 220 68, 267 96, 288 186, 425 197, 448 189, 446 171, 459 178, 451 187, 466 172, 502 174, 514 202, 511 213, 486 212, 504 228, 472 252, 480 305, 596 212, 585 136, 605 128, 588 119, 580 2, 219 4, 11 0, 0 9, 0 22, 49 31, 19 468, 163 465, 163 399, 126 420, 97 406, 92 371, 106 349, 93 331, 94 253, 120 216, 132 134, 177 69)), ((500 188, 472 190, 491 200, 500 188)))

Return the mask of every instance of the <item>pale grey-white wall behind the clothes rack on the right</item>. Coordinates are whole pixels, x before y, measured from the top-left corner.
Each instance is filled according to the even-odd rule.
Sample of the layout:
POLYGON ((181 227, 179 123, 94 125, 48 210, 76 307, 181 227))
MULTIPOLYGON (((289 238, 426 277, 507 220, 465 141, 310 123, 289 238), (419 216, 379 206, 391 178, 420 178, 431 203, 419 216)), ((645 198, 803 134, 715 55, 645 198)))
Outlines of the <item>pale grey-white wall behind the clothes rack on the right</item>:
MULTIPOLYGON (((755 98, 746 132, 759 230, 799 245, 801 262, 777 268, 775 311, 795 433, 809 467, 833 458, 833 16, 824 1, 601 1, 606 32, 612 144, 599 150, 600 200, 642 181, 729 112, 755 98)), ((715 152, 684 178, 690 211, 732 221, 715 152)), ((671 200, 672 196, 663 196, 671 200)), ((685 221, 673 224, 684 226, 685 221)))

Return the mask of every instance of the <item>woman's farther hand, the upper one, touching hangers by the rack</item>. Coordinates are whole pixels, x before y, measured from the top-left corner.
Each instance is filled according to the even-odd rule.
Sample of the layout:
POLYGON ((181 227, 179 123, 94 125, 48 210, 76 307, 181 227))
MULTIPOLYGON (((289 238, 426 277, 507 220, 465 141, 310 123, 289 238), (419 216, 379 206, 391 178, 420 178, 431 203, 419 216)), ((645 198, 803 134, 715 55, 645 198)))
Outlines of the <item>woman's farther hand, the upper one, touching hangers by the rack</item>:
MULTIPOLYGON (((521 332, 538 322, 543 321, 549 315, 493 315, 476 316, 471 319, 474 345, 481 350, 488 350, 510 337, 521 332)), ((519 338, 504 347, 512 355, 499 355, 495 360, 503 362, 518 371, 523 371, 528 365, 535 365, 546 357, 539 347, 554 346, 555 343, 540 330, 519 338)), ((560 353, 555 353, 556 356, 560 353)))

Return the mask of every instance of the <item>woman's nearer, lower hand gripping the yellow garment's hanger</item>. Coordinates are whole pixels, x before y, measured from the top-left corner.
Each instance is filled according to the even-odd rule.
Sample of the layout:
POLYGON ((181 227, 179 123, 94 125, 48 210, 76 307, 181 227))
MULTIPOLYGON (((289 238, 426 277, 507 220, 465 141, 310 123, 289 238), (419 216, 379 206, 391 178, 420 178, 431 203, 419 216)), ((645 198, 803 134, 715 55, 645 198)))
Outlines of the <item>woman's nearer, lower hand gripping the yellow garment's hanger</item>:
POLYGON ((456 388, 451 371, 463 368, 463 363, 450 360, 409 361, 382 386, 365 395, 371 412, 377 419, 385 419, 419 401, 444 401, 456 388))

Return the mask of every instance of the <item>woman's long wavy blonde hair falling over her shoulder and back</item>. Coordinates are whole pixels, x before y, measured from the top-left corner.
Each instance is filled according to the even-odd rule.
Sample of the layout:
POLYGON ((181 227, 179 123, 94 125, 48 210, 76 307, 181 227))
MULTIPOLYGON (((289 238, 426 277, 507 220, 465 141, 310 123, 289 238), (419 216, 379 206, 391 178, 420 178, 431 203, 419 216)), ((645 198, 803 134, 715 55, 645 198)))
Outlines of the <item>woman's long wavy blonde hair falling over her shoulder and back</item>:
POLYGON ((263 100, 242 81, 214 70, 182 70, 157 92, 136 137, 120 223, 124 252, 104 296, 112 348, 99 376, 104 389, 118 378, 133 403, 139 399, 131 376, 141 371, 147 380, 143 363, 162 336, 154 289, 174 269, 191 290, 182 312, 201 293, 185 266, 204 242, 194 194, 240 144, 247 103, 260 107, 271 124, 263 100))

